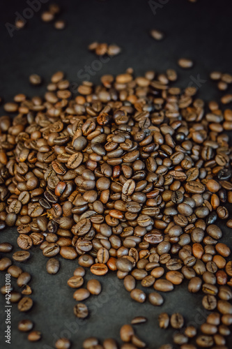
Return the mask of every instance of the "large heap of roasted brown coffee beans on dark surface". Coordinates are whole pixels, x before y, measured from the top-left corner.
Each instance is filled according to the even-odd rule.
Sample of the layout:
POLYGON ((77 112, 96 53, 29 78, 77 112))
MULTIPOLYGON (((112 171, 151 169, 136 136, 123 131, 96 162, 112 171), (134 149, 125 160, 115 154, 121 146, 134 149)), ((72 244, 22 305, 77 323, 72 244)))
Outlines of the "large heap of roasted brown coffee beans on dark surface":
MULTIPOLYGON (((179 64, 188 68, 191 62, 179 64)), ((116 272, 134 301, 153 306, 162 306, 163 295, 185 279, 190 292, 202 292, 210 315, 198 336, 186 327, 175 332, 173 342, 182 349, 228 348, 232 261, 229 246, 220 242, 217 218, 231 228, 226 204, 232 202, 231 147, 224 130, 232 129, 232 110, 196 98, 194 87, 170 86, 177 78, 173 69, 133 77, 128 68, 116 77, 102 76, 100 86, 83 82, 72 98, 70 82, 59 71, 44 98, 17 94, 4 105, 0 230, 16 226, 19 249, 13 253, 16 264, 3 257, 0 269, 24 285, 23 297, 11 292, 20 311, 29 311, 33 301, 31 276, 17 262, 28 260, 31 247, 38 246, 49 258, 49 274, 59 272, 56 255, 78 260, 68 279, 77 288, 78 318, 91 315, 83 302, 101 292, 95 279, 82 288, 84 268, 96 276, 116 272), (195 344, 187 343, 195 336, 195 344)), ((12 248, 0 245, 1 253, 12 248)), ((178 313, 170 321, 162 314, 159 322, 163 328, 169 322, 174 329, 184 326, 178 313)), ((24 320, 19 327, 33 325, 24 320)), ((33 331, 29 340, 40 336, 33 331)), ((121 329, 121 339, 124 349, 146 346, 130 325, 121 329)), ((63 348, 70 346, 59 341, 56 348, 63 342, 63 348)), ((93 339, 83 345, 90 347, 102 348, 93 339)))

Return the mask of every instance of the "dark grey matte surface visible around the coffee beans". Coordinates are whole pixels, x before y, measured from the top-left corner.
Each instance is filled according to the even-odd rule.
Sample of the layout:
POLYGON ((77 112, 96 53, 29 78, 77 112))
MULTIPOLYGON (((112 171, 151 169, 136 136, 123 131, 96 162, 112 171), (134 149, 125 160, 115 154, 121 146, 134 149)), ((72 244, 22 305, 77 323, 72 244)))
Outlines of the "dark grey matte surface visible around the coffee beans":
MULTIPOLYGON (((206 81, 201 86, 193 85, 199 87, 201 98, 210 101, 222 96, 216 84, 210 81, 209 73, 212 70, 232 73, 231 1, 199 0, 190 3, 187 0, 169 0, 164 4, 164 0, 157 0, 158 4, 163 5, 159 5, 154 14, 145 0, 57 0, 62 7, 59 18, 67 22, 63 31, 57 31, 51 23, 40 20, 42 10, 46 10, 50 2, 42 3, 40 11, 27 20, 26 27, 13 31, 11 38, 6 23, 14 24, 17 17, 15 12, 22 15, 29 5, 26 1, 1 1, 0 96, 4 101, 12 100, 18 93, 42 96, 45 85, 31 87, 28 82, 31 73, 38 73, 45 82, 49 82, 52 73, 63 70, 70 82, 80 84, 82 79, 77 75, 79 70, 98 60, 87 49, 94 40, 116 43, 123 52, 102 64, 102 68, 90 77, 93 82, 99 82, 100 76, 106 73, 123 73, 128 67, 134 68, 135 75, 142 75, 146 70, 161 73, 167 68, 175 68, 180 77, 176 85, 186 87, 199 76, 206 81), (157 42, 150 38, 149 30, 153 28, 165 32, 164 40, 157 42), (178 68, 176 61, 180 57, 193 59, 194 68, 178 68)), ((1 108, 3 114, 5 112, 1 108)), ((222 241, 232 246, 231 232, 225 225, 222 226, 222 241)), ((12 242, 14 251, 17 251, 16 239, 16 228, 1 232, 0 242, 12 242)), ((5 304, 0 295, 1 348, 49 349, 54 339, 71 335, 73 348, 79 349, 88 336, 118 339, 121 325, 130 322, 135 315, 146 315, 148 324, 137 326, 137 334, 149 348, 156 349, 164 343, 171 343, 173 334, 172 329, 164 331, 157 327, 157 316, 162 311, 169 314, 180 311, 185 315, 186 323, 192 322, 197 327, 206 320, 206 311, 201 306, 202 294, 190 295, 186 290, 187 283, 165 294, 164 305, 155 307, 148 302, 137 304, 132 301, 123 288, 123 281, 110 272, 99 278, 102 294, 86 300, 91 311, 90 317, 87 320, 76 320, 72 313, 75 305, 73 290, 68 288, 66 282, 77 267, 77 260, 62 259, 61 270, 56 276, 47 274, 46 262, 39 248, 31 248, 31 259, 20 265, 32 274, 30 285, 35 304, 28 314, 19 313, 17 306, 13 306, 11 345, 3 339, 6 329, 3 312, 5 304), (26 334, 17 331, 17 322, 23 318, 36 322, 35 329, 42 331, 42 341, 29 343, 26 334)), ((86 280, 91 277, 90 272, 87 272, 86 280)), ((4 272, 1 272, 0 278, 0 285, 4 285, 4 272)), ((15 280, 12 283, 15 285, 15 280)))

